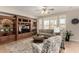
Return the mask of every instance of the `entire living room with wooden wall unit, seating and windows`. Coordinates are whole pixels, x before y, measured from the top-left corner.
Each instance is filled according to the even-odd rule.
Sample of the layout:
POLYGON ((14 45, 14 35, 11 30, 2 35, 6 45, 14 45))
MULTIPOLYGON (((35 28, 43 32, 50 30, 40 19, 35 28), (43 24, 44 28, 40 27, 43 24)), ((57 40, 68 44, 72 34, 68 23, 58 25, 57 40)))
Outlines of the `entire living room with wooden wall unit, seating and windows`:
POLYGON ((78 53, 78 15, 78 6, 0 6, 0 53, 78 53))

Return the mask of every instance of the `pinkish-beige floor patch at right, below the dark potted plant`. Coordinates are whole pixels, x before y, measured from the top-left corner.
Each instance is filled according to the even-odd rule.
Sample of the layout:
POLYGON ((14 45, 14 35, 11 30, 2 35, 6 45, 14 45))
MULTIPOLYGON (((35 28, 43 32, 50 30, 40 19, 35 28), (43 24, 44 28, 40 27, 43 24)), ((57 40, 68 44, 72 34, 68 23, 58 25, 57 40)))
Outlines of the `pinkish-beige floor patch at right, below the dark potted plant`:
POLYGON ((75 41, 65 42, 64 53, 79 53, 79 42, 75 41))

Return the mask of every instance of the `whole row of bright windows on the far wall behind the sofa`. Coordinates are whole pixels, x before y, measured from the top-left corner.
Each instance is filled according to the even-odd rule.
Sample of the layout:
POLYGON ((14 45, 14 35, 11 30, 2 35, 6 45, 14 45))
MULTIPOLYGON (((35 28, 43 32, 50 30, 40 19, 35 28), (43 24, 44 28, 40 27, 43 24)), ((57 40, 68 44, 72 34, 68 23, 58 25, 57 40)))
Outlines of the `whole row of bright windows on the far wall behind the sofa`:
POLYGON ((54 29, 56 27, 59 27, 60 29, 66 28, 66 15, 39 19, 39 29, 54 29))

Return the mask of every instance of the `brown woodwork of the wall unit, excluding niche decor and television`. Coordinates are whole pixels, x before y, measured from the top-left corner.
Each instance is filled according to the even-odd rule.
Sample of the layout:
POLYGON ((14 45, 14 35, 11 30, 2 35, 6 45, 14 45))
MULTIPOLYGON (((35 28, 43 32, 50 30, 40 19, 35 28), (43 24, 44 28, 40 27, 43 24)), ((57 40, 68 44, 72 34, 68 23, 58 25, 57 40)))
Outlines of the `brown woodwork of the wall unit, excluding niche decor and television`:
POLYGON ((13 31, 7 34, 5 32, 4 33, 0 32, 0 44, 31 37, 33 33, 32 29, 36 29, 36 22, 32 22, 33 19, 30 17, 15 16, 15 15, 13 16, 11 15, 11 17, 0 16, 0 25, 2 24, 1 23, 2 19, 10 19, 12 21, 11 25, 13 31), (22 29, 19 30, 20 25, 25 25, 28 28, 27 32, 20 31, 22 30, 22 29))

